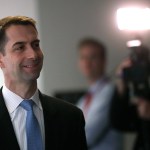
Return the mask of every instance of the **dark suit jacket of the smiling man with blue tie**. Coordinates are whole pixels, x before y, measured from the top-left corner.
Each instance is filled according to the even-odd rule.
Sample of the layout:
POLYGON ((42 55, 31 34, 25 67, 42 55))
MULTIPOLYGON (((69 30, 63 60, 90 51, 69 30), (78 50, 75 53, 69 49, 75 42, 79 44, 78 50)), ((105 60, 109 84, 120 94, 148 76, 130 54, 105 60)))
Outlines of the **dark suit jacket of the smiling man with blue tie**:
MULTIPOLYGON (((87 150, 84 117, 75 106, 40 93, 44 113, 46 150, 87 150)), ((0 90, 0 147, 20 150, 0 90)), ((1 149, 0 148, 0 149, 1 149)))

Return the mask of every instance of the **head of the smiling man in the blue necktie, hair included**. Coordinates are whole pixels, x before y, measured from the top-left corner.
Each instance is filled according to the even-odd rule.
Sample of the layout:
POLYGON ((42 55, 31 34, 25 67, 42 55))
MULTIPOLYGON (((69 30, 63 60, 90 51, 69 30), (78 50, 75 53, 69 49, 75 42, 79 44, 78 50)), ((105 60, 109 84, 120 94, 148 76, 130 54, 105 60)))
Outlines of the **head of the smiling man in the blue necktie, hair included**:
POLYGON ((31 83, 40 75, 43 53, 35 21, 25 16, 0 20, 0 67, 5 83, 31 83))

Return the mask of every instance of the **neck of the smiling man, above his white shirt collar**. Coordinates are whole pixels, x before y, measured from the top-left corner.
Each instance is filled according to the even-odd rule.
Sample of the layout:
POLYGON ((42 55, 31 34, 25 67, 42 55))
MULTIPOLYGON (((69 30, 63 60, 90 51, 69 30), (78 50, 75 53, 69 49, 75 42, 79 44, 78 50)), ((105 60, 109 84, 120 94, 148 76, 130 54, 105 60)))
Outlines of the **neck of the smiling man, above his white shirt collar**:
POLYGON ((37 81, 18 84, 5 81, 5 85, 10 91, 19 95, 23 99, 31 98, 37 89, 37 81))

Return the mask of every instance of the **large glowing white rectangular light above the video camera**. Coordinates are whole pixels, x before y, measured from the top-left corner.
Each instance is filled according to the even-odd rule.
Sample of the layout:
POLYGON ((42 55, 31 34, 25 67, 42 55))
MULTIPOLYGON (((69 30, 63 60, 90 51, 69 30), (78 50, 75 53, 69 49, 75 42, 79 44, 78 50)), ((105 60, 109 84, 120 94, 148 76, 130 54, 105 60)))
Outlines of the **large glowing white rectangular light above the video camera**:
POLYGON ((117 24, 120 30, 149 30, 150 8, 119 8, 117 24))

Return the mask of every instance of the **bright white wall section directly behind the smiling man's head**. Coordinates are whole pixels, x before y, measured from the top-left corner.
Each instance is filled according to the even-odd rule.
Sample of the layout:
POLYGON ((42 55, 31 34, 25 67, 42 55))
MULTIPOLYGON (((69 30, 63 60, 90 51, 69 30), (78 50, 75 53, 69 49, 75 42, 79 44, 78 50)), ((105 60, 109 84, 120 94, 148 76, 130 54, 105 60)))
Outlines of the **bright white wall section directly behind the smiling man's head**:
MULTIPOLYGON (((13 15, 25 15, 37 20, 39 22, 38 15, 38 1, 37 0, 0 0, 0 18, 13 15)), ((39 26, 38 26, 39 27, 39 26)), ((39 79, 39 87, 42 89, 42 76, 39 79)), ((0 70, 0 87, 4 83, 3 74, 0 70)))

